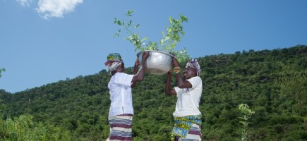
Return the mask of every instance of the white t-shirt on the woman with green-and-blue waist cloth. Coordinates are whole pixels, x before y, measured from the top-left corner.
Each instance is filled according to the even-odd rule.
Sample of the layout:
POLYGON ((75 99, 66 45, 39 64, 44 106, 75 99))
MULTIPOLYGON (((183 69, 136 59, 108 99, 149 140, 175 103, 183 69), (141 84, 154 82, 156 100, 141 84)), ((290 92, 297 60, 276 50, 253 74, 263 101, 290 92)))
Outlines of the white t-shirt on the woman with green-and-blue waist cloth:
POLYGON ((174 87, 177 93, 176 110, 173 116, 191 116, 200 115, 198 109, 200 97, 203 90, 203 83, 199 76, 188 79, 191 82, 191 88, 181 89, 179 87, 174 87))

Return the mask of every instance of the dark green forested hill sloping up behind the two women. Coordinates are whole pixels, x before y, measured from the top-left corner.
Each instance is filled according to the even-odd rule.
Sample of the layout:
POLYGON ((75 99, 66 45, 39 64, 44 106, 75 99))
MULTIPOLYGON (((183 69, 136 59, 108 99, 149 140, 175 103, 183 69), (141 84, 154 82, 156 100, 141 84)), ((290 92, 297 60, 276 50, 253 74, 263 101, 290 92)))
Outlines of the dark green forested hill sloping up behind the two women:
MULTIPOLYGON (((307 119, 307 46, 237 51, 198 60, 203 70, 204 140, 240 139, 239 104, 255 111, 248 119, 248 140, 307 140, 303 123, 307 119)), ((126 68, 126 73, 131 71, 126 68)), ((102 70, 15 94, 0 90, 6 104, 1 112, 5 117, 30 114, 35 123, 68 130, 71 140, 105 140, 110 77, 102 70)), ((176 97, 164 94, 165 79, 166 75, 145 75, 133 89, 134 140, 169 140, 176 97)))

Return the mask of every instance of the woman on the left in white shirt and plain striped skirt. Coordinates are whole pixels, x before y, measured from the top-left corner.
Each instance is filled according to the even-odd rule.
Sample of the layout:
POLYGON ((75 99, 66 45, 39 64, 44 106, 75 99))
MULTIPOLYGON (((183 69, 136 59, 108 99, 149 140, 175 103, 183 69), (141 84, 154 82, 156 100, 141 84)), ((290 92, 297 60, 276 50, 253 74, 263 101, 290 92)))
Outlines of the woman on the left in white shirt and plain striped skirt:
POLYGON ((109 109, 110 134, 107 140, 132 140, 133 105, 131 88, 144 78, 147 51, 143 52, 142 66, 138 59, 134 66, 133 75, 124 73, 124 61, 118 53, 109 54, 108 61, 104 63, 109 68, 112 77, 108 83, 111 106, 109 109))

